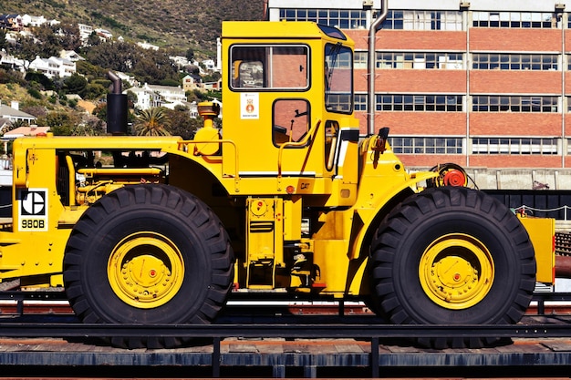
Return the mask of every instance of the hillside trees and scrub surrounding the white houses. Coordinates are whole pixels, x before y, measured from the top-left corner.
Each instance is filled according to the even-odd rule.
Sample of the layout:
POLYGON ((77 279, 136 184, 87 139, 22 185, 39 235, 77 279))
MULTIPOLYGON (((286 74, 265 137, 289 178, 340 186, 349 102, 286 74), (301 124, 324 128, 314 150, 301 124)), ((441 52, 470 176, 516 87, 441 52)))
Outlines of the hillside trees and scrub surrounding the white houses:
MULTIPOLYGON (((49 126, 57 135, 101 135, 105 134, 109 70, 128 73, 140 83, 180 86, 181 78, 196 74, 198 68, 182 67, 181 71, 169 56, 213 58, 221 21, 261 19, 263 0, 196 0, 186 6, 173 0, 162 1, 161 6, 142 0, 0 0, 0 10, 4 14, 44 15, 60 21, 57 26, 34 28, 34 37, 18 36, 16 46, 8 44, 5 32, 0 30, 0 48, 9 54, 31 61, 36 56, 59 56, 65 49, 86 58, 77 62, 78 74, 53 80, 32 72, 22 77, 9 67, 0 67, 0 99, 8 104, 17 100, 22 111, 36 116, 38 125, 49 126), (115 38, 102 41, 93 34, 87 46, 82 46, 78 24, 108 29, 115 38), (142 40, 161 48, 144 50, 135 44, 142 40), (82 102, 68 97, 72 94, 90 100, 95 105, 93 112, 87 114, 82 102)), ((204 80, 219 77, 214 73, 204 80)), ((192 91, 187 96, 189 101, 220 99, 219 92, 192 91)), ((202 119, 190 118, 189 109, 184 107, 137 113, 132 109, 132 94, 130 97, 132 134, 171 134, 192 139, 202 126, 202 119)))

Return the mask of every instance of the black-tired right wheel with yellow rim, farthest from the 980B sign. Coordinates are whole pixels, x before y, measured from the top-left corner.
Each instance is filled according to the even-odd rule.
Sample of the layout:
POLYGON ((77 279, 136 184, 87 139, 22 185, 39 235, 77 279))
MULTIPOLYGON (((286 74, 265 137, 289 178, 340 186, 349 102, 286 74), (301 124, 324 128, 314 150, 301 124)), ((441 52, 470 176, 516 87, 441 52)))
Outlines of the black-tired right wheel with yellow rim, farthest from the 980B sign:
MULTIPOLYGON (((370 268, 392 324, 514 324, 535 288, 534 249, 514 214, 485 193, 425 190, 383 221, 370 268)), ((490 339, 425 339, 435 348, 490 339)))

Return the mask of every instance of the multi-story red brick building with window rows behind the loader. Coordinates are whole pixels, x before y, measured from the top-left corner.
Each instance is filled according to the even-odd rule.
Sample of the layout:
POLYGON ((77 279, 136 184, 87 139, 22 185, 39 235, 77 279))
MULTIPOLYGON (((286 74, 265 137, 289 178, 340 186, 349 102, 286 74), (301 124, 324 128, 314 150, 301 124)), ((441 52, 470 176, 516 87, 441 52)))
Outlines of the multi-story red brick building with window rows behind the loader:
POLYGON ((374 112, 408 166, 571 167, 571 7, 389 0, 368 104, 369 25, 379 8, 380 0, 268 0, 266 18, 337 26, 355 41, 361 133, 374 112))

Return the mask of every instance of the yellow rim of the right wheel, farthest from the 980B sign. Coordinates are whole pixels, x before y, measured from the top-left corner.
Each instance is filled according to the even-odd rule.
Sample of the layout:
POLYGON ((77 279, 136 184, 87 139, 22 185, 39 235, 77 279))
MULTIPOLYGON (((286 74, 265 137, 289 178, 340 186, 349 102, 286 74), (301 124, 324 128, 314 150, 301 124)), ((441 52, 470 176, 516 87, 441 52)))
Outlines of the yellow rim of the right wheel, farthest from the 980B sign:
POLYGON ((452 310, 480 303, 493 284, 492 254, 462 233, 441 236, 422 253, 420 284, 432 302, 452 310))

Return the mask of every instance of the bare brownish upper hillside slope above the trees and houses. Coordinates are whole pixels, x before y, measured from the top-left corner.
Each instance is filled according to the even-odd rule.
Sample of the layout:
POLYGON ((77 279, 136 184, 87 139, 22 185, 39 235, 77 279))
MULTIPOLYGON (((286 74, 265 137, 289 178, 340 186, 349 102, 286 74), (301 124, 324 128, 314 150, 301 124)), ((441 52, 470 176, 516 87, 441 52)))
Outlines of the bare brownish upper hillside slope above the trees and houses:
POLYGON ((44 15, 212 56, 221 22, 262 19, 264 0, 0 0, 0 14, 44 15))

